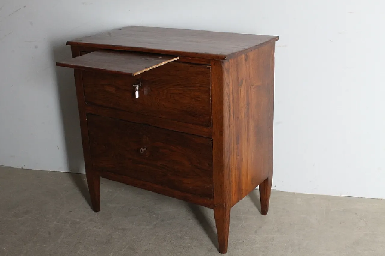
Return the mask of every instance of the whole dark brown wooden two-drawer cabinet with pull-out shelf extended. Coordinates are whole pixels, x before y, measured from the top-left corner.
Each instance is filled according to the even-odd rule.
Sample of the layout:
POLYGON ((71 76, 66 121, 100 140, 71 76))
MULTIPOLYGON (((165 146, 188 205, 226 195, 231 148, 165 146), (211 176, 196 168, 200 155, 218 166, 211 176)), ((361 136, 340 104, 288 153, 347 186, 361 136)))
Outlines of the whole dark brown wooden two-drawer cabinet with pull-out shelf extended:
POLYGON ((87 183, 100 177, 214 209, 219 252, 230 210, 273 175, 278 37, 130 26, 67 42, 87 183))

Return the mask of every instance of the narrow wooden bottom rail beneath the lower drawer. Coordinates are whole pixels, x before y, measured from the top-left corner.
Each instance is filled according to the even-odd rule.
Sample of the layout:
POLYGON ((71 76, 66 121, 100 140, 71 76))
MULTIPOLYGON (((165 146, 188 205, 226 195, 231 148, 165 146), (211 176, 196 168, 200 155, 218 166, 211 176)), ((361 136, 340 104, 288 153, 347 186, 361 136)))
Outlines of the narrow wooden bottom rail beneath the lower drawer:
POLYGON ((160 186, 154 183, 142 181, 142 180, 137 180, 128 176, 120 175, 117 173, 111 173, 109 171, 95 171, 97 175, 100 177, 117 181, 120 183, 124 183, 130 186, 134 186, 137 188, 142 188, 148 191, 152 191, 158 194, 163 194, 165 196, 170 196, 176 199, 180 199, 183 201, 187 201, 190 203, 198 204, 207 208, 213 208, 213 199, 211 198, 204 198, 204 197, 199 197, 194 194, 190 193, 185 193, 181 192, 178 190, 174 190, 172 188, 168 188, 165 186, 160 186))

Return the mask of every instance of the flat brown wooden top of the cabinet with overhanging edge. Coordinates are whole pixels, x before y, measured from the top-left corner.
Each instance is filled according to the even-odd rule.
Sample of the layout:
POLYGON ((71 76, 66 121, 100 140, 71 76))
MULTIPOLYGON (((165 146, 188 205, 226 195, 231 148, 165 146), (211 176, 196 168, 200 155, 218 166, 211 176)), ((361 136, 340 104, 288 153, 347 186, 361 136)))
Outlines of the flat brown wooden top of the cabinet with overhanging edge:
POLYGON ((129 26, 71 40, 67 45, 225 60, 276 40, 278 37, 269 35, 129 26))

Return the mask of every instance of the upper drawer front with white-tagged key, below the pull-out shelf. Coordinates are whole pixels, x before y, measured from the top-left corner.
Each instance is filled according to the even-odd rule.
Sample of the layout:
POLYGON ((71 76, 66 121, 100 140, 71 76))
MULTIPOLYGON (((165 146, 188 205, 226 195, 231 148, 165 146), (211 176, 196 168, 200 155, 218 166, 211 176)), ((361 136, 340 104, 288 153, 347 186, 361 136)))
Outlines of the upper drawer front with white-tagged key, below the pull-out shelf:
POLYGON ((137 76, 82 71, 82 79, 88 103, 211 126, 210 66, 167 63, 137 76))

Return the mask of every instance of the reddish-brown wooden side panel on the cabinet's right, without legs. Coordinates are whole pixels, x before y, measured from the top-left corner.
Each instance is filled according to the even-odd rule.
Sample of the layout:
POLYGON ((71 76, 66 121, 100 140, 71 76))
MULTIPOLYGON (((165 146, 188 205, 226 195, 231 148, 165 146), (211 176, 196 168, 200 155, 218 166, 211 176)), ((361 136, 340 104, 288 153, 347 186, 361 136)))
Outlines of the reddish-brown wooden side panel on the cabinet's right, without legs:
POLYGON ((273 42, 229 60, 232 205, 273 171, 274 50, 273 42))

